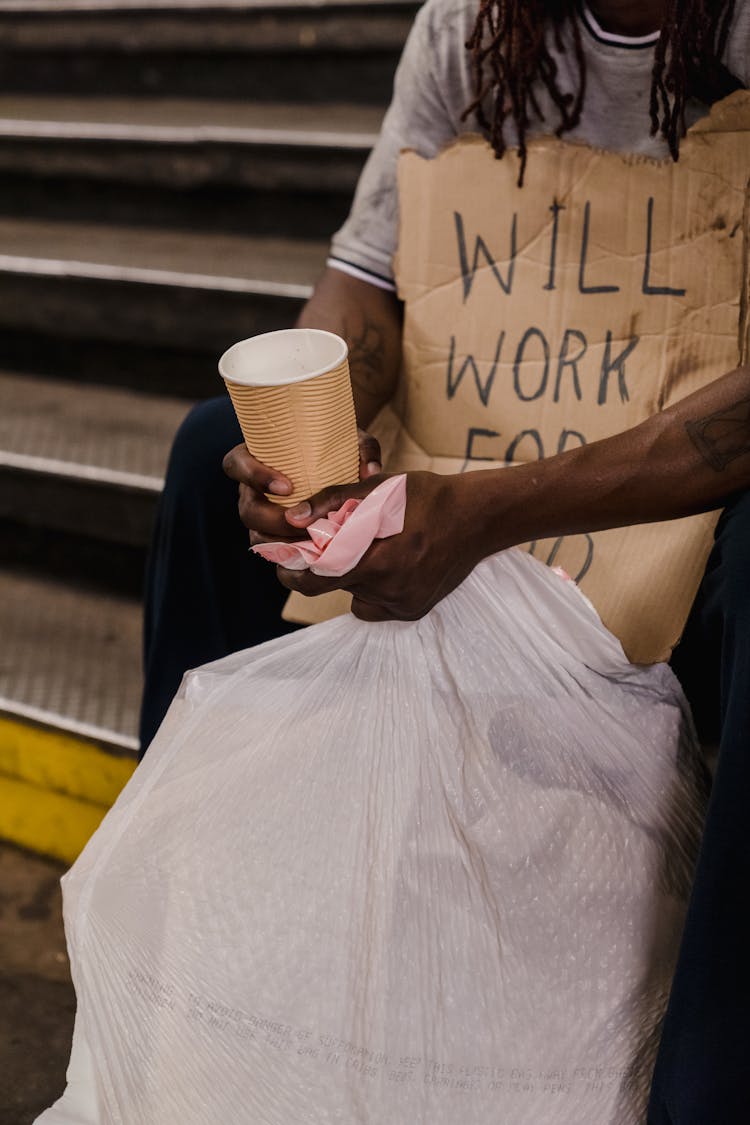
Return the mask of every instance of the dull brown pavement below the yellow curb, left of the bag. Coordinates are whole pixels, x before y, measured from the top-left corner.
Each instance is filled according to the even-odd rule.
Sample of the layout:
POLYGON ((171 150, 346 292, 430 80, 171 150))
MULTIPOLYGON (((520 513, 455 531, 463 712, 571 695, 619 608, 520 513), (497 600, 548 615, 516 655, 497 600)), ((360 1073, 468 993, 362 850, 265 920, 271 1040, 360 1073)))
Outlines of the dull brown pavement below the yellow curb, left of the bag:
POLYGON ((75 996, 64 870, 0 843, 0 1125, 30 1125, 65 1086, 75 996))

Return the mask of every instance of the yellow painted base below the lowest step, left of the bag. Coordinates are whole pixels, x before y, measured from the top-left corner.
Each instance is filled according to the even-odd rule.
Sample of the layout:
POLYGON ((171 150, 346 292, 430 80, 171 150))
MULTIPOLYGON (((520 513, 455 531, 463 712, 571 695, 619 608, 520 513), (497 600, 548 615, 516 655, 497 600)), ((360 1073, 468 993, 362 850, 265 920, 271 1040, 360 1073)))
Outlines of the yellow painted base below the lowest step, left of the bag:
POLYGON ((0 837, 72 863, 135 766, 134 756, 0 717, 0 837))

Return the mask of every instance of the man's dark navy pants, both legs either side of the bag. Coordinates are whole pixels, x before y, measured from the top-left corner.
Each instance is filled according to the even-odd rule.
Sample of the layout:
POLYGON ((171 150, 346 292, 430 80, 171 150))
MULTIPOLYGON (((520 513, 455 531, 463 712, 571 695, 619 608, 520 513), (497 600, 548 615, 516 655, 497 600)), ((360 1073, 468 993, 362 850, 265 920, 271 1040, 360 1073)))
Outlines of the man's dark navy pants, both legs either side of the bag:
MULTIPOLYGON (((237 486, 222 471, 241 441, 228 398, 197 406, 172 449, 148 568, 147 747, 183 672, 293 629, 273 567, 249 554, 237 486)), ((724 512, 672 660, 704 737, 719 738, 683 947, 648 1125, 750 1122, 750 493, 724 512)), ((581 1122, 581 1125, 599 1125, 581 1122)))

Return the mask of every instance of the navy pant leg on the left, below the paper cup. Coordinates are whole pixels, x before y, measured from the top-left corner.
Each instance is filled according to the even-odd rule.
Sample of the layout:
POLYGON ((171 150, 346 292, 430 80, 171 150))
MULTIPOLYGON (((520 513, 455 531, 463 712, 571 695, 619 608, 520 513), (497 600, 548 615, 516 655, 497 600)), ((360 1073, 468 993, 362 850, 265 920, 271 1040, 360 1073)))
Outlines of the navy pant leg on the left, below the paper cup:
POLYGON ((241 441, 223 397, 193 407, 172 446, 146 575, 142 753, 188 668, 296 628, 281 620, 288 592, 250 554, 237 485, 222 471, 241 441))

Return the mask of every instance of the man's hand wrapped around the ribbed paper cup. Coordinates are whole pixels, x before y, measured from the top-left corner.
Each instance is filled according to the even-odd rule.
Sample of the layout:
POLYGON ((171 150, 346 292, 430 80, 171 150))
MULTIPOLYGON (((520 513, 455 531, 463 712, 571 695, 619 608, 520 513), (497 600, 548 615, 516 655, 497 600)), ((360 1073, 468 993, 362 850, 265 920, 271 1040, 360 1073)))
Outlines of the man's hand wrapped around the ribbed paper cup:
MULTIPOLYGON (((372 434, 358 431, 360 443, 360 480, 367 480, 381 470, 380 446, 372 434)), ((245 444, 235 446, 224 458, 224 471, 240 484, 240 519, 251 532, 251 542, 266 540, 299 539, 296 528, 290 525, 280 504, 266 500, 265 494, 288 496, 291 482, 282 472, 263 465, 247 451, 245 444)), ((309 521, 307 521, 309 522, 309 521)))

